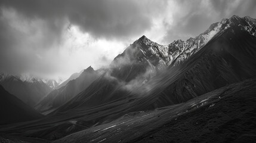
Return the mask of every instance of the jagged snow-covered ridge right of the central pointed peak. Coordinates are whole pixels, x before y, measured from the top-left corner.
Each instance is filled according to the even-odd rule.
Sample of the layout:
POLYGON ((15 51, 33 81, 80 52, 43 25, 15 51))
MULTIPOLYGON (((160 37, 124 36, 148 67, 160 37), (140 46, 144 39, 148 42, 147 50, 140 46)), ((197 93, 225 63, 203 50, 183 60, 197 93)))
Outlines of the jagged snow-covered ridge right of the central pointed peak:
MULTIPOLYGON (((187 41, 177 40, 169 45, 159 46, 159 49, 166 49, 168 47, 168 54, 166 53, 166 50, 163 50, 163 55, 169 56, 169 61, 167 62, 168 64, 175 65, 195 54, 195 52, 199 51, 204 45, 206 45, 206 43, 214 38, 215 35, 229 29, 232 26, 238 27, 240 30, 245 30, 252 36, 256 36, 256 20, 254 18, 248 16, 240 18, 233 15, 229 19, 224 18, 218 23, 211 24, 211 26, 205 32, 199 36, 196 36, 195 38, 189 38, 187 41)), ((154 43, 155 45, 157 44, 155 42, 148 43, 154 43)))

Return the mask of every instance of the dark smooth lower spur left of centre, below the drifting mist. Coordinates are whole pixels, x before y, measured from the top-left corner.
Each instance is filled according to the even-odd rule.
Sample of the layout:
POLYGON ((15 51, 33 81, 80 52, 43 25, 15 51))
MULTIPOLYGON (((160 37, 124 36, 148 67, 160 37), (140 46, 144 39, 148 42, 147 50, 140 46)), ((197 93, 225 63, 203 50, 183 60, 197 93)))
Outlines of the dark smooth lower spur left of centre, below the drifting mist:
MULTIPOLYGON (((129 91, 122 88, 118 80, 109 79, 105 74, 91 83, 85 91, 82 91, 69 102, 58 108, 53 114, 72 110, 73 108, 91 108, 120 100, 128 95, 129 91)), ((64 113, 63 113, 64 114, 64 113)))

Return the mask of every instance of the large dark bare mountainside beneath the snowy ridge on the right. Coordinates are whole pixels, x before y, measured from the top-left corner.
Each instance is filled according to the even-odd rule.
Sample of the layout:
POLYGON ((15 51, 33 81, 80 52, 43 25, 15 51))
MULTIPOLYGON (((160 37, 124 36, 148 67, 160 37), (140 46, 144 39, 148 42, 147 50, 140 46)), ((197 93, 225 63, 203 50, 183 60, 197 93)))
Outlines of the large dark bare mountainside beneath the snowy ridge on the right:
MULTIPOLYGON (((256 38, 233 26, 208 42, 161 80, 152 79, 134 108, 147 110, 195 98, 230 83, 256 76, 256 38)), ((144 88, 144 89, 143 89, 144 88)))

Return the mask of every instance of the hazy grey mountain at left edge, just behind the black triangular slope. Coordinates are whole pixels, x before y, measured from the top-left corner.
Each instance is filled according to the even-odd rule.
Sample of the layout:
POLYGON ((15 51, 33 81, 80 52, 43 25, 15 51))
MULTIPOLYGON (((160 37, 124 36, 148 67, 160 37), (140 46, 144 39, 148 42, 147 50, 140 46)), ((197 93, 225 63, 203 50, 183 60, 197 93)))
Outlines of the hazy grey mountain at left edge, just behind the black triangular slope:
POLYGON ((5 73, 0 74, 0 85, 31 107, 52 91, 42 80, 35 77, 13 76, 5 73))

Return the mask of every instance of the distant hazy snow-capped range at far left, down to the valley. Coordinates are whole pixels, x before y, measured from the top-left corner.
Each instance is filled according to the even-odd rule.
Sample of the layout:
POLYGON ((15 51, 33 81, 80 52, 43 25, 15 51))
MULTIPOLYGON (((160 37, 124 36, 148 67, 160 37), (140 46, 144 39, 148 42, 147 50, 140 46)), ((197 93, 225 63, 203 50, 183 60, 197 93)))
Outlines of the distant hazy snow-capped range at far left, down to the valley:
POLYGON ((12 75, 8 73, 0 73, 0 85, 8 92, 16 95, 21 101, 34 107, 45 95, 48 95, 54 89, 64 86, 67 82, 78 77, 81 73, 72 74, 69 79, 63 80, 59 78, 42 79, 30 76, 29 74, 12 75))

